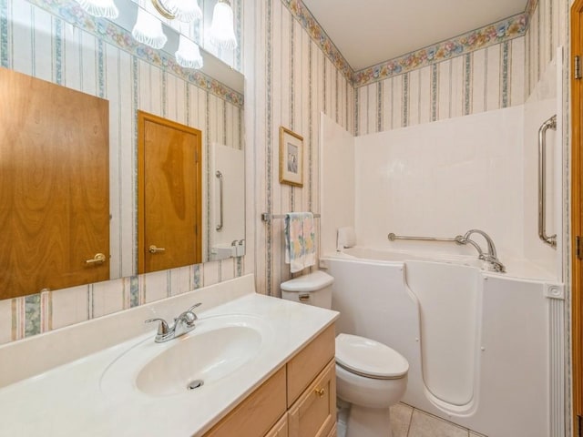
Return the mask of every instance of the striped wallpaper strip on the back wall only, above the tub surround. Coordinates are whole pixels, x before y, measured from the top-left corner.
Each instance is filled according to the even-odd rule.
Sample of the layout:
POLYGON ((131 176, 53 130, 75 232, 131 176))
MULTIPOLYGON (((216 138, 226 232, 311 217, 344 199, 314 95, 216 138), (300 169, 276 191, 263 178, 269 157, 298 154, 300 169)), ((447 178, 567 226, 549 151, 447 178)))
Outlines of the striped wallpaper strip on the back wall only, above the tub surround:
POLYGON ((460 117, 525 101, 525 38, 357 88, 356 135, 460 117))

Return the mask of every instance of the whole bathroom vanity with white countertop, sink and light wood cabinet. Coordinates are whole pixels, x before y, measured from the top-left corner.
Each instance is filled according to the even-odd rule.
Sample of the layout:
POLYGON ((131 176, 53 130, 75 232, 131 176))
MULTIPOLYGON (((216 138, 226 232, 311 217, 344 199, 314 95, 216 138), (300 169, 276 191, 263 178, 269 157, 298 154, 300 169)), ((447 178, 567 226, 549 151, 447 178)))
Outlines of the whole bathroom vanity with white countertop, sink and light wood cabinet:
POLYGON ((248 275, 2 345, 0 435, 335 435, 337 317, 248 275), (154 342, 144 320, 197 302, 195 330, 154 342))

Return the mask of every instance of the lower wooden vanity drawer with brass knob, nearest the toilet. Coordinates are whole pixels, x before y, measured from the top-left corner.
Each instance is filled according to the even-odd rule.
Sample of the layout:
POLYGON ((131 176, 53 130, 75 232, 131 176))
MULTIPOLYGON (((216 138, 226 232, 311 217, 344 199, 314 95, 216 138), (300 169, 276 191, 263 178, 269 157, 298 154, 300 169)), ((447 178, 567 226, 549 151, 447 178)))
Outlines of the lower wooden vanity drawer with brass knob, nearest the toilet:
POLYGON ((328 437, 336 423, 336 373, 332 359, 289 410, 289 437, 328 437))

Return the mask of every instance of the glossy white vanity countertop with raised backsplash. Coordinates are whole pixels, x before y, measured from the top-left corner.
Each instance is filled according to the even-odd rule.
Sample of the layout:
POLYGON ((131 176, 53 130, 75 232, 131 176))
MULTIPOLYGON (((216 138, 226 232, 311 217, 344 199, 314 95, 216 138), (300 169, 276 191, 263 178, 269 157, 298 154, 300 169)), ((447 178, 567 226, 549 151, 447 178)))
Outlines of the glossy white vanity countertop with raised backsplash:
MULTIPOLYGON (((256 294, 248 275, 0 346, 0 434, 200 436, 336 317, 331 310, 256 294), (145 319, 171 320, 198 301, 203 303, 197 329, 180 339, 154 342, 156 327, 145 325, 145 319), (251 337, 244 332, 252 332, 251 337), (201 371, 207 379, 198 391, 187 391, 186 382, 171 372, 140 380, 142 371, 188 341, 204 344, 209 334, 231 333, 251 340, 255 353, 244 364, 231 361, 236 369, 225 374, 201 371), (46 353, 49 348, 60 352, 59 362, 56 353, 46 353), (176 385, 156 384, 164 378, 176 385)), ((236 343, 225 344, 236 352, 236 343)), ((209 349, 204 355, 216 364, 212 353, 223 351, 209 349)), ((197 376, 190 373, 186 381, 191 377, 197 376)))

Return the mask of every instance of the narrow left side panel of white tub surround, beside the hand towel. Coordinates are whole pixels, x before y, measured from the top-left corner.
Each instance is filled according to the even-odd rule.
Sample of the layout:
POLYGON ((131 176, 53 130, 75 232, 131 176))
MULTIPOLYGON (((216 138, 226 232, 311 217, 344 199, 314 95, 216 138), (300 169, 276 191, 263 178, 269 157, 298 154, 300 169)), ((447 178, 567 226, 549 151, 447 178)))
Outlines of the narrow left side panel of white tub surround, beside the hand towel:
POLYGON ((321 123, 321 253, 336 250, 337 231, 354 227, 354 137, 324 113, 321 123))

